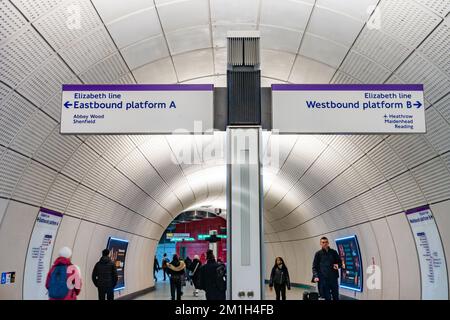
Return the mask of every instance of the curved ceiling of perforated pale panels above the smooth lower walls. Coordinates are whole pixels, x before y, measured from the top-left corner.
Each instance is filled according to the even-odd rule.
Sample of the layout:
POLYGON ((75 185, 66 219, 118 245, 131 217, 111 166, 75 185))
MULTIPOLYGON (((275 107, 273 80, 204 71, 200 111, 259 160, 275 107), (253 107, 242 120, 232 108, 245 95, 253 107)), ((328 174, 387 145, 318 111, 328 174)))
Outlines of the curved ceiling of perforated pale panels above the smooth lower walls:
POLYGON ((261 31, 263 84, 424 83, 425 135, 265 135, 267 242, 450 198, 449 0, 0 0, 0 197, 159 240, 222 203, 224 135, 62 136, 62 83, 225 85, 228 30, 261 31), (369 6, 377 10, 368 10, 369 6))

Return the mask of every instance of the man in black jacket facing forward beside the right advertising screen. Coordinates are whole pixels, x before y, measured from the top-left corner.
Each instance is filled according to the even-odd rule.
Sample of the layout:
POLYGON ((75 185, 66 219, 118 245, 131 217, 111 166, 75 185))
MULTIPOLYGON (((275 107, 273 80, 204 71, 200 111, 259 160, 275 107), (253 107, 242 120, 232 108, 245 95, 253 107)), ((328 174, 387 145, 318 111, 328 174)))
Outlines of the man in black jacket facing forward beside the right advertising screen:
POLYGON ((336 250, 330 248, 327 237, 320 239, 321 250, 317 251, 313 261, 313 281, 319 283, 319 293, 325 300, 339 300, 339 268, 342 261, 336 250))

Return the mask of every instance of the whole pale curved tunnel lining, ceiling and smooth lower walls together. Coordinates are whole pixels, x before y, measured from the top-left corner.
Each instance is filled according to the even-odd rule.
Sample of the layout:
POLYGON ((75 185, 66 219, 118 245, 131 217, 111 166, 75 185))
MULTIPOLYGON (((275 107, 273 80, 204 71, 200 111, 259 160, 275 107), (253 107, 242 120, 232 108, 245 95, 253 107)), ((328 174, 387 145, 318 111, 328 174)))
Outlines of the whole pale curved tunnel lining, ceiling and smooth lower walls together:
MULTIPOLYGON (((223 163, 204 159, 200 165, 174 164, 167 159, 177 144, 197 143, 170 137, 61 136, 61 84, 224 84, 221 37, 237 21, 246 21, 239 28, 262 31, 266 85, 424 83, 426 135, 283 136, 280 166, 268 170, 274 177, 266 179, 271 181, 264 203, 266 270, 275 255, 282 255, 293 281, 308 284, 319 237, 357 234, 364 267, 374 257, 382 268, 383 285, 356 297, 420 298, 418 257, 403 211, 431 204, 448 260, 450 2, 359 1, 362 11, 369 4, 381 9, 383 28, 377 30, 368 28, 368 16, 356 14, 356 7, 333 7, 332 1, 318 7, 311 1, 276 1, 273 9, 285 16, 309 12, 310 25, 307 15, 270 21, 267 8, 274 3, 264 0, 262 6, 249 2, 245 17, 238 0, 230 6, 229 20, 218 15, 233 1, 212 1, 211 10, 217 10, 220 19, 209 21, 216 30, 209 44, 193 40, 187 48, 159 43, 152 48, 166 53, 152 56, 152 61, 130 54, 146 41, 125 45, 117 33, 121 28, 115 27, 161 9, 166 18, 155 16, 159 28, 176 40, 181 29, 198 21, 183 21, 181 29, 174 30, 167 22, 176 18, 176 11, 170 10, 174 7, 159 1, 156 6, 149 2, 146 10, 128 7, 130 12, 122 12, 123 7, 114 7, 110 15, 109 5, 103 10, 98 5, 109 0, 0 2, 5 26, 0 33, 0 254, 7 257, 0 260, 0 269, 18 273, 15 285, 0 287, 0 298, 22 297, 20 271, 40 206, 65 214, 55 250, 63 244, 74 247, 74 260, 84 276, 82 298, 95 298, 89 273, 110 235, 130 240, 124 293, 152 285, 151 257, 165 227, 182 210, 224 194, 224 180, 195 174, 223 163), (81 29, 66 28, 66 8, 72 4, 81 8, 81 29), (252 10, 262 10, 261 19, 252 10)), ((186 10, 189 4, 193 1, 186 1, 186 10)), ((160 39, 163 32, 158 30, 158 36, 149 39, 160 39)), ((198 28, 189 30, 196 33, 198 28)), ((222 138, 216 139, 219 143, 222 138)))

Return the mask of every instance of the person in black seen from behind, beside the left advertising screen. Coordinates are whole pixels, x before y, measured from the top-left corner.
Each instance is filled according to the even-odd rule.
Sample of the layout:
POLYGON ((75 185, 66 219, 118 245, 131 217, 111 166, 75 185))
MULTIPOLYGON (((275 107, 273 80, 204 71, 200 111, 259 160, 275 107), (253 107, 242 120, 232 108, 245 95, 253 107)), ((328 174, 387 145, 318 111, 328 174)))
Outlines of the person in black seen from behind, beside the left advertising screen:
POLYGON ((105 249, 92 271, 92 281, 98 288, 99 300, 105 300, 105 296, 108 300, 114 300, 114 287, 118 279, 116 265, 109 257, 109 250, 105 249))

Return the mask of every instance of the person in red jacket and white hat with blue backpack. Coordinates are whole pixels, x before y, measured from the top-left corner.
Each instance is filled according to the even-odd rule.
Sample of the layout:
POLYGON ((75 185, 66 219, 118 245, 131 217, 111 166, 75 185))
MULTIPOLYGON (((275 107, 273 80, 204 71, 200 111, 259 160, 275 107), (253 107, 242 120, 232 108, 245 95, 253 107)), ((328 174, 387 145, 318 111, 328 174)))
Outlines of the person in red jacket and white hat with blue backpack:
POLYGON ((59 250, 45 282, 49 300, 77 300, 81 291, 81 273, 78 266, 72 264, 71 257, 70 248, 59 250))

